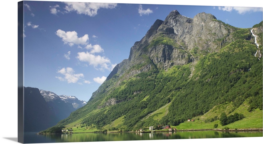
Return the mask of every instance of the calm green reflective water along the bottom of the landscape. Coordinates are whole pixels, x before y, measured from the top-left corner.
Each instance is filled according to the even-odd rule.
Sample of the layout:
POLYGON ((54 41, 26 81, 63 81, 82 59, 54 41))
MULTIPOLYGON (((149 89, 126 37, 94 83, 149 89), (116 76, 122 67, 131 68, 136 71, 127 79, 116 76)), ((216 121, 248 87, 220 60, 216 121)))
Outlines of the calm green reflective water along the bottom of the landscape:
POLYGON ((220 131, 182 131, 153 133, 82 133, 37 135, 26 133, 24 143, 50 142, 96 142, 96 141, 131 141, 131 140, 167 140, 188 138, 227 138, 227 137, 262 137, 261 132, 220 132, 220 131))

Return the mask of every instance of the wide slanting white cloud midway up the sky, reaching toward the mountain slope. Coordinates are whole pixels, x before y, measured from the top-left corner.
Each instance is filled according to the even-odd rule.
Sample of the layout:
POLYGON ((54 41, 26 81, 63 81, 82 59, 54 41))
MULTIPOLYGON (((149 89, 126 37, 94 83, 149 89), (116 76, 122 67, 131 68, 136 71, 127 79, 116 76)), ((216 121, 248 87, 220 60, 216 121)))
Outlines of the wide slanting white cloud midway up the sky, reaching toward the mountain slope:
POLYGON ((94 68, 96 68, 98 65, 100 65, 99 70, 103 70, 103 69, 110 70, 110 68, 108 68, 108 66, 110 64, 110 60, 107 57, 100 56, 100 55, 96 56, 96 55, 93 55, 89 52, 78 52, 77 58, 82 62, 88 62, 89 65, 94 66, 94 68))

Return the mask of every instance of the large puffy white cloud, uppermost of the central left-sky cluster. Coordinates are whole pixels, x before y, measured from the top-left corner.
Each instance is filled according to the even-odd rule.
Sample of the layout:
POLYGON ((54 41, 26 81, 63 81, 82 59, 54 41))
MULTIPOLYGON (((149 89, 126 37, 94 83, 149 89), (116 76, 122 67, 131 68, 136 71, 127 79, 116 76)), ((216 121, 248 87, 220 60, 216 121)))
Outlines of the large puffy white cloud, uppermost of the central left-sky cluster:
POLYGON ((78 38, 78 33, 75 31, 63 31, 63 30, 57 30, 56 35, 62 38, 62 41, 64 41, 64 44, 68 44, 69 46, 73 46, 74 44, 77 45, 85 45, 88 43, 89 36, 88 34, 85 34, 84 36, 78 38))

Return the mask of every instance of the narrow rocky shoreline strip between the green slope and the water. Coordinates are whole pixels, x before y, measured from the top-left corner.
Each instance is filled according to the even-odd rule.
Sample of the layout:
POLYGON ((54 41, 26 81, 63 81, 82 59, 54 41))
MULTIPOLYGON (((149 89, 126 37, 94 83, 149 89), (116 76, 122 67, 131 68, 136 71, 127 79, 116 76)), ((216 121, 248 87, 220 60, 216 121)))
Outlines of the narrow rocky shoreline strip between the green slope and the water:
MULTIPOLYGON (((176 131, 224 131, 224 132, 242 132, 242 131, 263 131, 263 128, 253 128, 253 129, 229 129, 229 130, 222 130, 222 129, 187 129, 187 130, 173 130, 173 131, 127 131, 127 132, 138 132, 138 133, 149 133, 149 132, 176 132, 176 131)), ((120 131, 107 131, 107 132, 71 132, 67 134, 82 134, 82 133, 117 133, 120 131)), ((121 131, 121 132, 126 132, 126 131, 121 131)), ((36 133, 39 135, 47 135, 46 133, 36 133)), ((60 133, 63 134, 63 133, 60 133)))

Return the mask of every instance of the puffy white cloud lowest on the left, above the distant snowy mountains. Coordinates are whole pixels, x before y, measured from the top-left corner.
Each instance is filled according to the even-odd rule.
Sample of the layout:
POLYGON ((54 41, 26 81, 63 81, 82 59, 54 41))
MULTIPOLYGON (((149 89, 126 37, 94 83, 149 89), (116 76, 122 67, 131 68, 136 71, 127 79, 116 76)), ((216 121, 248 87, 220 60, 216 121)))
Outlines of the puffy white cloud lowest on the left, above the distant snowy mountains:
POLYGON ((63 74, 64 78, 62 77, 56 77, 56 78, 58 78, 60 81, 66 80, 68 83, 77 83, 81 77, 84 77, 82 73, 75 74, 74 73, 75 71, 71 67, 62 68, 61 70, 58 70, 57 72, 60 74, 63 74))

